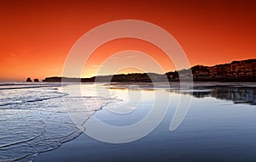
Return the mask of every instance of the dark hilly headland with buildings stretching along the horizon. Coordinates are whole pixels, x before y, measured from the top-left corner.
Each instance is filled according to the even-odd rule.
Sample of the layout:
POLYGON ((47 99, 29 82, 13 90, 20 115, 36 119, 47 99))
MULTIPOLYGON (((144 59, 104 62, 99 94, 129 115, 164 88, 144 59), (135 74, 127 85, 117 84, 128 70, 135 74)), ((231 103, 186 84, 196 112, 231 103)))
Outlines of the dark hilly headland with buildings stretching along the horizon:
POLYGON ((195 65, 188 70, 170 71, 166 74, 134 73, 119 75, 102 75, 90 78, 47 77, 45 82, 152 82, 152 81, 179 81, 191 79, 194 81, 256 81, 256 59, 232 61, 229 64, 214 66, 195 65), (191 75, 192 72, 192 75, 191 75))

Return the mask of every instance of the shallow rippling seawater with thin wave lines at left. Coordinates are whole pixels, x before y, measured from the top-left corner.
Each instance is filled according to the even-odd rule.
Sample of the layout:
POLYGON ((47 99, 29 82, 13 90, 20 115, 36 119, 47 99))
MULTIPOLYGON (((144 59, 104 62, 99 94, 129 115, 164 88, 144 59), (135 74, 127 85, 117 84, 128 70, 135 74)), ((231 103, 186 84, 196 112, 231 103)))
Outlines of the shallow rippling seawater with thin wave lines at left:
MULTIPOLYGON (((95 97, 90 85, 84 96, 77 95, 78 86, 60 84, 11 84, 0 85, 0 161, 30 161, 38 154, 61 146, 78 137, 84 121, 113 98, 108 95, 95 97), (63 89, 69 93, 63 92, 63 89), (92 91, 92 92, 91 92, 92 91), (72 93, 73 92, 73 93, 72 93), (99 103, 97 98, 103 98, 99 103), (83 112, 83 119, 72 120, 65 105, 73 103, 73 112, 81 105, 90 109, 83 112)), ((79 109, 79 113, 82 109, 79 109)))

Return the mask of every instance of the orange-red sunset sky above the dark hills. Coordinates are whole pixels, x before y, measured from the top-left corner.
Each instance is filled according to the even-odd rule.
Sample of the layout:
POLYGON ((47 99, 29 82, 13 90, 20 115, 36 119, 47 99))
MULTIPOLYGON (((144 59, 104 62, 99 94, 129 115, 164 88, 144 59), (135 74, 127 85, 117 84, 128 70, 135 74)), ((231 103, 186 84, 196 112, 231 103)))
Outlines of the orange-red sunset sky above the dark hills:
MULTIPOLYGON (((160 26, 183 47, 191 66, 254 59, 255 7, 253 0, 0 0, 0 81, 61 76, 75 42, 96 26, 114 20, 143 20, 160 26)), ((100 67, 104 67, 102 74, 108 74, 113 65, 129 61, 148 65, 152 59, 163 71, 176 70, 172 61, 166 61, 165 53, 150 42, 114 40, 92 53, 82 76, 97 75, 100 67), (142 53, 114 55, 127 50, 149 57, 142 53)), ((115 73, 158 72, 147 67, 139 70, 134 65, 115 73)))

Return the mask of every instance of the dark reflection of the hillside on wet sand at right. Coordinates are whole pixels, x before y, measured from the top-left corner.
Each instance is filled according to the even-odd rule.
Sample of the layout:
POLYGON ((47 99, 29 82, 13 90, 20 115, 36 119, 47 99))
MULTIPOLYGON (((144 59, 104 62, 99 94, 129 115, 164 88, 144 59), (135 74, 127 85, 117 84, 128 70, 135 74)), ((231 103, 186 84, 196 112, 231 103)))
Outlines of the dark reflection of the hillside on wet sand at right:
MULTIPOLYGON (((203 87, 209 91, 193 92, 195 98, 213 97, 256 105, 256 87, 203 87)), ((189 93, 191 94, 191 93, 189 93)))

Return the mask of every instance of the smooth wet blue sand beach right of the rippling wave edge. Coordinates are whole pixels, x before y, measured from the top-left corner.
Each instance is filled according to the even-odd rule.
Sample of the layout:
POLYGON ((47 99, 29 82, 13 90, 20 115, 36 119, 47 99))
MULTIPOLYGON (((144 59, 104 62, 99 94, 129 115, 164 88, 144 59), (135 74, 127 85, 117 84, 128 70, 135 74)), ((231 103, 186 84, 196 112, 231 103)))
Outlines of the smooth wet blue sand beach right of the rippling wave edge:
MULTIPOLYGON (((188 115, 175 131, 169 131, 174 113, 174 109, 169 109, 160 126, 135 142, 106 143, 82 134, 63 144, 61 148, 40 154, 36 161, 253 161, 253 153, 256 150, 253 142, 256 134, 253 124, 255 106, 247 103, 248 101, 234 103, 231 99, 220 99, 222 96, 233 96, 234 100, 241 99, 242 93, 246 95, 246 92, 252 91, 251 88, 240 87, 219 87, 224 92, 216 91, 216 98, 211 97, 209 88, 195 91, 194 94, 198 98, 192 99, 188 115), (240 98, 235 94, 240 95, 240 98)), ((255 102, 255 90, 253 91, 255 102)), ((188 95, 189 91, 183 92, 188 95)), ((173 94, 171 98, 175 101, 177 95, 173 94)), ((250 97, 248 99, 252 100, 250 97)), ((172 103, 171 107, 177 106, 175 104, 177 103, 172 103)), ((141 105, 144 108, 138 109, 147 107, 147 104, 141 105)), ((123 120, 120 120, 119 116, 113 119, 107 109, 96 112, 96 117, 116 126, 124 126, 129 121, 134 121, 132 116, 122 118, 123 120)))

